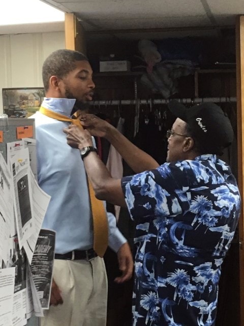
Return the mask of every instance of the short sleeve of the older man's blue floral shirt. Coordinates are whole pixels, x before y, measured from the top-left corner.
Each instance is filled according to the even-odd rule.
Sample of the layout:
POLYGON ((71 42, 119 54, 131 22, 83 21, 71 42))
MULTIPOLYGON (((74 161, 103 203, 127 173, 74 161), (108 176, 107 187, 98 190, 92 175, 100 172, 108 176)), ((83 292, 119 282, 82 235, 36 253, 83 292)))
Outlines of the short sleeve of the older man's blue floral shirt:
POLYGON ((148 219, 181 213, 184 200, 188 202, 187 189, 182 188, 184 180, 187 183, 185 169, 168 163, 156 170, 124 177, 121 185, 131 217, 148 219))

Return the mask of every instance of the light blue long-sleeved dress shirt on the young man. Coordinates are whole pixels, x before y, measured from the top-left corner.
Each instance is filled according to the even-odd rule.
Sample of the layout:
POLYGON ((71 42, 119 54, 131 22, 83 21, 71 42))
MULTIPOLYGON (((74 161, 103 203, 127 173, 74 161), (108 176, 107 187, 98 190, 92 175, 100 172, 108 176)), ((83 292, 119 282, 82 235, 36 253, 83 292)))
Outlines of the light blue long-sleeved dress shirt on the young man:
MULTIPOLYGON (((75 99, 45 98, 42 106, 70 117, 75 99)), ((56 231, 58 254, 93 247, 93 222, 86 174, 80 151, 67 144, 63 129, 69 122, 57 121, 40 112, 35 118, 38 183, 51 196, 43 228, 56 231)), ((107 213, 109 247, 115 252, 126 242, 116 227, 113 214, 107 213)))

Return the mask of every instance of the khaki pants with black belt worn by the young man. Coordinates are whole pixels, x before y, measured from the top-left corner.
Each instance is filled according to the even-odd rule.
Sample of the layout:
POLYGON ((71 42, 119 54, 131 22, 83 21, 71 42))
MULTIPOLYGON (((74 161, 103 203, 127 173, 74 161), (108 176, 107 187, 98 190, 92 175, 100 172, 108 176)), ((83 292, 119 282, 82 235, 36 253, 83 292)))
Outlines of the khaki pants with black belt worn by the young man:
POLYGON ((41 317, 41 326, 105 326, 107 276, 104 261, 54 260, 53 279, 63 305, 50 306, 41 317))

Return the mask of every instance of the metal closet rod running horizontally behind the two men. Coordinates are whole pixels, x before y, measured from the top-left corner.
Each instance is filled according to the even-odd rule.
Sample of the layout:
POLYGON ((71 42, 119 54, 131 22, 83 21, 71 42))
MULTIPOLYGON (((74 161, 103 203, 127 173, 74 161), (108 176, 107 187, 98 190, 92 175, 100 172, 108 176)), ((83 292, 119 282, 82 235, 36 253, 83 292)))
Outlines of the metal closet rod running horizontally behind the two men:
MULTIPOLYGON (((212 102, 212 103, 227 103, 236 102, 236 97, 196 97, 196 98, 174 98, 175 100, 183 104, 195 104, 202 102, 212 102)), ((171 99, 170 99, 171 100, 171 99)), ((107 100, 107 101, 90 101, 92 105, 132 105, 136 103, 140 104, 167 104, 169 99, 137 99, 137 100, 107 100)))

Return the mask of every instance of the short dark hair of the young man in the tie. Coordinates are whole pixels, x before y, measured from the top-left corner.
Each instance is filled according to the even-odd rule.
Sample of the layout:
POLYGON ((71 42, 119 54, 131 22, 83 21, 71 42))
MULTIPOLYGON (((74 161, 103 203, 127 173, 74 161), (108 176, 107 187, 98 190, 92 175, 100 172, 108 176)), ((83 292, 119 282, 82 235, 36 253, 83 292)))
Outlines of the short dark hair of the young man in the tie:
POLYGON ((74 70, 76 61, 82 60, 88 61, 86 56, 78 51, 60 49, 52 52, 42 66, 42 80, 45 92, 48 91, 51 76, 63 78, 74 70))

